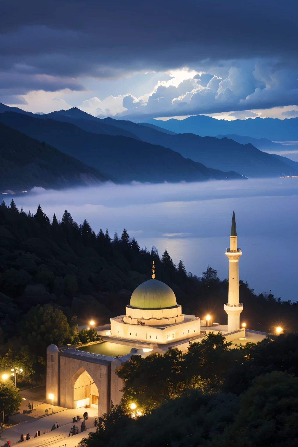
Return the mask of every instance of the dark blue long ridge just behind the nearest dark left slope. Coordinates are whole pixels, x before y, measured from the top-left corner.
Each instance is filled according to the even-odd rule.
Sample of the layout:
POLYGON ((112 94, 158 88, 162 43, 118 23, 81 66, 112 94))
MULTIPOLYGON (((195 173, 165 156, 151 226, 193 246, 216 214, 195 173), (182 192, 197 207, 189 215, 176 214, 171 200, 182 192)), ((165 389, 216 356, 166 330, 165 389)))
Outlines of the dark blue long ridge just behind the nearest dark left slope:
POLYGON ((230 172, 230 169, 228 173, 208 169, 203 164, 185 159, 178 152, 162 146, 124 136, 93 134, 68 122, 11 112, 0 114, 0 121, 32 138, 45 141, 120 182, 243 178, 230 172))

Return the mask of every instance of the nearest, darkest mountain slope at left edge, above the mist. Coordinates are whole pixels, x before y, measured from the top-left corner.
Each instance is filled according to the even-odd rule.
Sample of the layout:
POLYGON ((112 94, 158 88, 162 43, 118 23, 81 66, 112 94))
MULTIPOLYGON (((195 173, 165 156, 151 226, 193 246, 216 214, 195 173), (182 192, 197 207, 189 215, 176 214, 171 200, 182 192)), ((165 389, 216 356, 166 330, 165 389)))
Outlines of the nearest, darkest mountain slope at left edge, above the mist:
POLYGON ((0 122, 0 189, 63 188, 98 184, 104 174, 0 122))

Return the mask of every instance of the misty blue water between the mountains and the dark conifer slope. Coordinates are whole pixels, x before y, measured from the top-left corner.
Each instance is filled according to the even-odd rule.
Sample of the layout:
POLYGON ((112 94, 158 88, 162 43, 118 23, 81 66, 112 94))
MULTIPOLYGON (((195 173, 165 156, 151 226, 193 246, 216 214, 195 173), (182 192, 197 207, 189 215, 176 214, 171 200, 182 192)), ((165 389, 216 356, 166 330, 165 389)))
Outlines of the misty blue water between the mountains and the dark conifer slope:
POLYGON ((228 276, 225 250, 235 210, 240 279, 256 293, 271 290, 298 300, 298 178, 35 188, 14 200, 27 213, 40 203, 51 220, 54 213, 61 220, 67 209, 77 223, 87 219, 96 233, 102 227, 110 236, 115 230, 121 235, 126 228, 141 248, 155 245, 160 255, 167 248, 187 271, 201 276, 210 265, 221 279, 228 276))

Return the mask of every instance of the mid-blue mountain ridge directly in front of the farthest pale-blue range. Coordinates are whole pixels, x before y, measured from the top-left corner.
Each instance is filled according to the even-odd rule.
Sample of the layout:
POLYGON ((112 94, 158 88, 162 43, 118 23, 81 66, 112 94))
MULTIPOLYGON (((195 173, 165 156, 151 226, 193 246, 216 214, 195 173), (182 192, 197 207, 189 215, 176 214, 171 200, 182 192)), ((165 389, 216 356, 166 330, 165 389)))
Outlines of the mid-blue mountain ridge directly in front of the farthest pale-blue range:
MULTIPOLYGON (((293 169, 290 163, 285 163, 286 158, 277 160, 272 155, 264 155, 263 152, 256 150, 251 145, 243 148, 244 142, 241 139, 245 141, 246 139, 249 140, 250 137, 247 136, 242 137, 238 135, 238 139, 241 141, 235 142, 235 140, 232 141, 231 139, 218 140, 218 138, 200 137, 194 134, 175 134, 170 131, 164 132, 161 128, 154 125, 147 125, 146 123, 136 124, 131 121, 116 120, 113 118, 99 119, 82 112, 76 107, 46 115, 33 115, 33 118, 42 121, 51 118, 69 122, 84 131, 94 134, 129 136, 147 143, 163 146, 164 148, 170 148, 173 151, 179 152, 185 158, 190 158, 210 168, 223 171, 233 170, 247 177, 279 177, 290 174, 293 169)), ((13 126, 12 121, 10 121, 10 124, 13 126)), ((20 128, 20 130, 25 132, 23 128, 20 128)), ((36 134, 34 136, 40 139, 36 134)), ((264 140, 268 141, 266 139, 264 140)), ((259 142, 257 139, 252 139, 252 141, 259 142)), ((263 141, 263 139, 260 141, 263 141)), ((55 141, 55 145, 57 144, 55 141)), ((60 149, 63 150, 63 148, 60 149)), ((98 169, 103 170, 101 168, 98 169)), ((105 172, 112 174, 110 171, 105 172)), ((119 177, 119 174, 117 177, 119 177)))

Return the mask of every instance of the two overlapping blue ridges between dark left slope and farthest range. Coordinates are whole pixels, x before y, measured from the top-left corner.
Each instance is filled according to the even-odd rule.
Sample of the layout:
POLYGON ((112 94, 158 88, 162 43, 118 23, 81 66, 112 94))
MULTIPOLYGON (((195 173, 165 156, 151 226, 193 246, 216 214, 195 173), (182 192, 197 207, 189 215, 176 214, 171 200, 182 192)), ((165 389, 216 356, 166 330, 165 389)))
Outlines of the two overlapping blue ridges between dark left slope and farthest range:
POLYGON ((0 121, 76 157, 113 181, 175 182, 298 175, 295 162, 262 152, 251 144, 255 141, 264 144, 263 139, 260 143, 258 139, 239 135, 227 138, 217 134, 215 138, 177 134, 151 123, 99 119, 75 107, 50 114, 17 110, 21 109, 0 104, 0 121))

